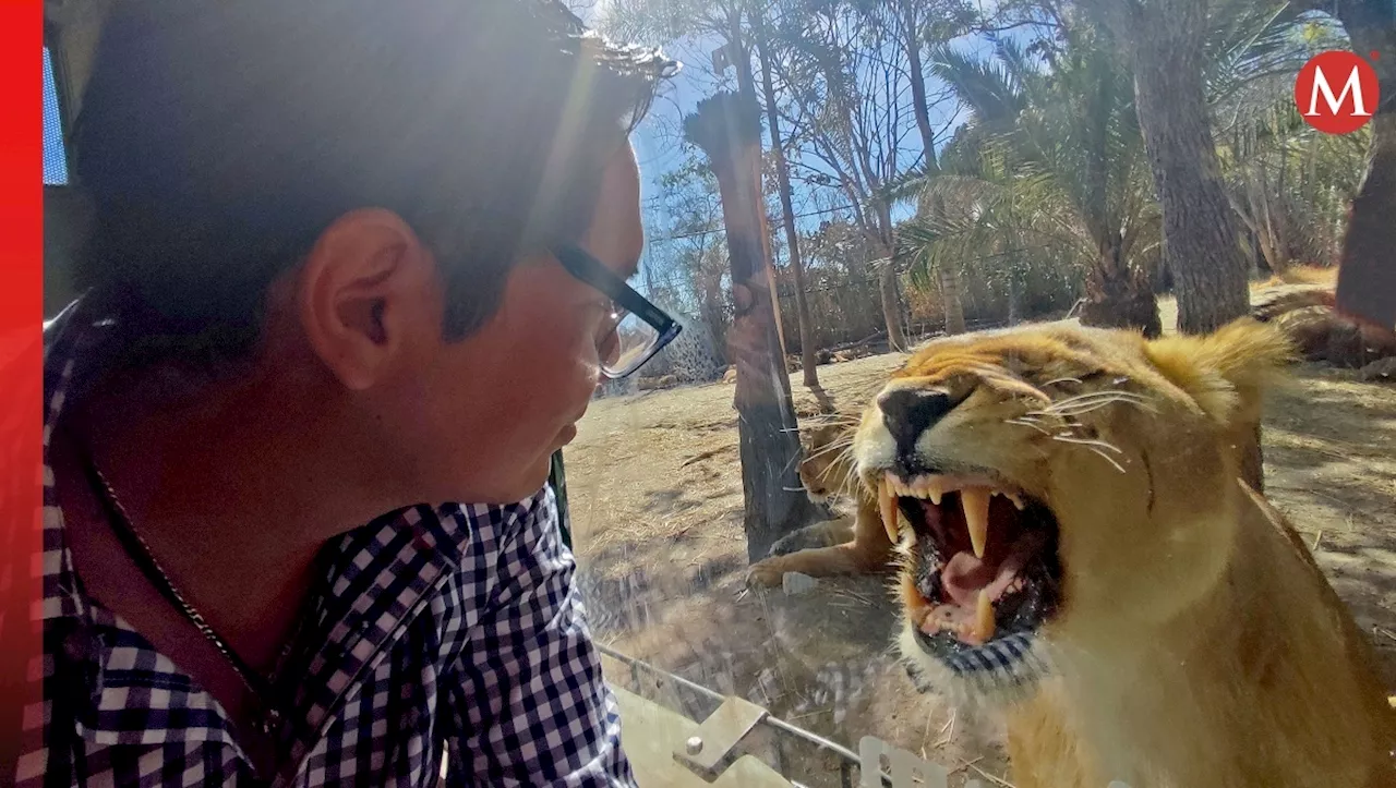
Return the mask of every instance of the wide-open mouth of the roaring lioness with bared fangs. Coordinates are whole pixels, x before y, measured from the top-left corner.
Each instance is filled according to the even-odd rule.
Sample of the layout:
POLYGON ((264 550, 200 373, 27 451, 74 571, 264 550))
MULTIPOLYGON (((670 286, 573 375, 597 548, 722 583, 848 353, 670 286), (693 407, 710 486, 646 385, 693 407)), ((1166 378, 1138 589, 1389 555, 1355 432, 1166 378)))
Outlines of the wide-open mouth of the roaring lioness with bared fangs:
POLYGON ((956 672, 1011 667, 1061 603, 1057 519, 987 477, 886 473, 882 523, 912 526, 902 573, 917 644, 956 672))

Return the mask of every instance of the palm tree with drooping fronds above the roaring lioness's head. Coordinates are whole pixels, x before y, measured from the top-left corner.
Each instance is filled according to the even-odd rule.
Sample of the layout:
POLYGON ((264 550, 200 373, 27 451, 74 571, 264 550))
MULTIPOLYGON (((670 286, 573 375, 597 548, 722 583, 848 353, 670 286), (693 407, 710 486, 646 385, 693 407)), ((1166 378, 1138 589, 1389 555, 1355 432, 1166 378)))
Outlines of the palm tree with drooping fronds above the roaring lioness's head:
POLYGON ((923 211, 900 227, 921 265, 955 250, 1061 247, 1085 262, 1082 322, 1160 332, 1149 272, 1134 252, 1156 227, 1128 70, 1087 25, 1030 56, 941 47, 933 70, 972 119, 926 179, 923 211))

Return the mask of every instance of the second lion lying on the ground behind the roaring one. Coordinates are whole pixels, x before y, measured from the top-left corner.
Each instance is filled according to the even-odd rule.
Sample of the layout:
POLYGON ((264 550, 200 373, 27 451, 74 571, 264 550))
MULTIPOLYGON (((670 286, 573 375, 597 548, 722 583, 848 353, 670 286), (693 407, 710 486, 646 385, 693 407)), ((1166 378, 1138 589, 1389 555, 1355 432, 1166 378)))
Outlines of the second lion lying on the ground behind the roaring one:
POLYGON ((771 547, 771 558, 747 570, 752 586, 779 586, 786 572, 811 577, 863 575, 891 569, 892 538, 882 527, 877 499, 859 481, 850 442, 856 416, 833 414, 808 430, 800 483, 815 503, 835 497, 856 503, 853 524, 846 517, 800 529, 771 547))

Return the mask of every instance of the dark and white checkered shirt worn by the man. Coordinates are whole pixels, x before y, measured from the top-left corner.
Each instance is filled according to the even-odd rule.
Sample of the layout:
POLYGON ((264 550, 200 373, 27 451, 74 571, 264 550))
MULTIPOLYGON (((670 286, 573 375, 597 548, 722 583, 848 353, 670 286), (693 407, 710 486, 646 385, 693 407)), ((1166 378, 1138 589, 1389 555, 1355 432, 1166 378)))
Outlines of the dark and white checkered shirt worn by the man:
POLYGON ((88 597, 64 544, 49 438, 101 358, 81 301, 45 326, 42 656, 20 787, 634 785, 558 540, 553 494, 415 506, 327 545, 285 671, 288 767, 260 781, 219 703, 88 597))

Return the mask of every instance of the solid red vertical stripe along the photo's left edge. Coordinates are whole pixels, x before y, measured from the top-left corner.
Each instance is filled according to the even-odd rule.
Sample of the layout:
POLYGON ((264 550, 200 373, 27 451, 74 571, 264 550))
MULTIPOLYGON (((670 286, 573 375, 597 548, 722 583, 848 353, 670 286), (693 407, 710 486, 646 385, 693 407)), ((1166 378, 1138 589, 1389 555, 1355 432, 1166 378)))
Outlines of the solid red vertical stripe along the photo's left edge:
POLYGON ((43 385, 43 11, 0 0, 0 785, 14 778, 38 653, 43 385), (8 580, 8 582, 7 582, 8 580))

